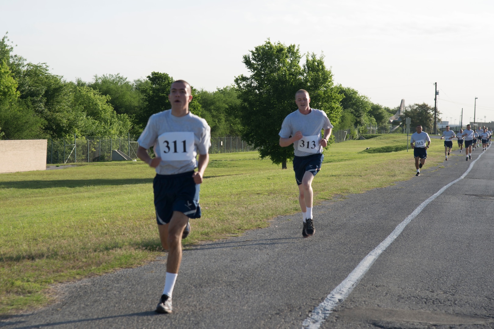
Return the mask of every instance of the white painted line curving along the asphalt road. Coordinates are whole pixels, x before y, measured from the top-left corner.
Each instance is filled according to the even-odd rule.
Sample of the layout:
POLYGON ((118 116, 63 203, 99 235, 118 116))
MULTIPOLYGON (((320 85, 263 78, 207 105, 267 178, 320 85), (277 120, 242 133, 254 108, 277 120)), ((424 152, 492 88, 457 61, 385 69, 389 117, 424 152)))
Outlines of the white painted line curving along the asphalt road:
POLYGON ((468 166, 468 169, 465 171, 460 178, 454 180, 453 182, 445 185, 439 191, 437 191, 434 195, 430 196, 427 200, 422 202, 420 206, 418 206, 412 214, 410 214, 406 219, 404 219, 396 228, 391 232, 390 235, 384 241, 382 241, 377 247, 374 248, 364 259, 355 267, 355 269, 343 280, 329 295, 326 299, 316 306, 311 314, 304 320, 302 323, 302 329, 319 329, 324 321, 328 318, 329 314, 334 310, 334 308, 338 305, 338 303, 344 301, 346 297, 353 291, 353 289, 358 285, 360 280, 367 273, 369 268, 371 268, 374 261, 381 255, 386 248, 400 235, 400 233, 405 229, 405 227, 414 219, 422 210, 431 203, 435 198, 440 196, 448 187, 453 185, 454 183, 462 180, 465 176, 472 170, 473 165, 477 162, 478 159, 484 153, 480 153, 477 159, 473 160, 468 166))

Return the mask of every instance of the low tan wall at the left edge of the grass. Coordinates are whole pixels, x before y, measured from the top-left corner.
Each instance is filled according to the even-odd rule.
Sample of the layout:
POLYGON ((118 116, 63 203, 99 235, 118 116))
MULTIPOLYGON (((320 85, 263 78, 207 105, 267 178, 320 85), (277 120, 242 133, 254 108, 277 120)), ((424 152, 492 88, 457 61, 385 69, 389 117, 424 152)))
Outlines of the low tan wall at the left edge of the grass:
POLYGON ((46 170, 46 140, 0 141, 0 173, 46 170))

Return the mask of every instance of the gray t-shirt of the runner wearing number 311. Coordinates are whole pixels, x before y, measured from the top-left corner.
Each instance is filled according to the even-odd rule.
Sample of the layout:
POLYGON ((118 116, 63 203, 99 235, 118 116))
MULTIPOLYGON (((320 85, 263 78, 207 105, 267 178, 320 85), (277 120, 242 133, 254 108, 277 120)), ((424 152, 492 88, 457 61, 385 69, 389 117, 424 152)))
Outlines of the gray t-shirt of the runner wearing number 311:
POLYGON ((181 174, 197 167, 197 153, 208 153, 211 128, 191 112, 179 117, 165 110, 151 115, 137 142, 146 149, 153 146, 156 156, 162 158, 157 174, 181 174))

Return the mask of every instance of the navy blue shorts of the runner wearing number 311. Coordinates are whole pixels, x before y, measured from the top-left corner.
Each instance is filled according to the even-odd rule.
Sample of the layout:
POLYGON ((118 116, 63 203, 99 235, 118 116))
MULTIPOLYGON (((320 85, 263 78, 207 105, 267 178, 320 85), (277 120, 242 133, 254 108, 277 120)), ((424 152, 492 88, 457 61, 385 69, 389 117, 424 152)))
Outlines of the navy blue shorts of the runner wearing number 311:
POLYGON ((159 175, 153 180, 156 221, 158 225, 170 222, 174 211, 188 218, 201 218, 199 186, 192 175, 194 171, 176 175, 159 175))

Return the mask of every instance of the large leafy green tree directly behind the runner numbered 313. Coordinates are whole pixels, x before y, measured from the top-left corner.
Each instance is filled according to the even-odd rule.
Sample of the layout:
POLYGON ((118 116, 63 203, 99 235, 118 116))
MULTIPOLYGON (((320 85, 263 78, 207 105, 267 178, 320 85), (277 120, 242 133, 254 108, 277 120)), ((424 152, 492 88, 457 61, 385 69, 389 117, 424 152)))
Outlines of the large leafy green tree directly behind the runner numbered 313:
POLYGON ((333 89, 332 75, 323 58, 307 55, 302 69, 299 48, 293 44, 286 46, 268 39, 243 58, 250 75, 235 78, 242 102, 235 115, 243 126, 242 137, 259 149, 261 158, 269 157, 287 168, 293 150, 279 146, 278 133, 285 117, 296 110, 295 92, 306 89, 311 100, 314 97, 314 104, 334 120, 339 118, 341 97, 333 89))

